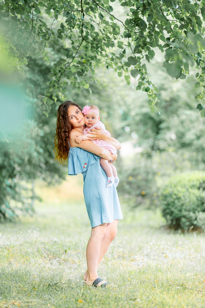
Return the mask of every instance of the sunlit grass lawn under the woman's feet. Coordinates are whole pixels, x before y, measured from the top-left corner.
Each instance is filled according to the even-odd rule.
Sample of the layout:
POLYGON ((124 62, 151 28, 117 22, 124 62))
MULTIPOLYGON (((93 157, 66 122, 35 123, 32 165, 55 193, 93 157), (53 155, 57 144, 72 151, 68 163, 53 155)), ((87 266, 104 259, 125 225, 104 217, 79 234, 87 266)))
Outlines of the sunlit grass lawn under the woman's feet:
POLYGON ((87 287, 81 176, 37 191, 43 202, 33 217, 0 225, 0 307, 205 307, 203 234, 174 233, 159 210, 122 205, 124 220, 99 267, 115 287, 87 287))

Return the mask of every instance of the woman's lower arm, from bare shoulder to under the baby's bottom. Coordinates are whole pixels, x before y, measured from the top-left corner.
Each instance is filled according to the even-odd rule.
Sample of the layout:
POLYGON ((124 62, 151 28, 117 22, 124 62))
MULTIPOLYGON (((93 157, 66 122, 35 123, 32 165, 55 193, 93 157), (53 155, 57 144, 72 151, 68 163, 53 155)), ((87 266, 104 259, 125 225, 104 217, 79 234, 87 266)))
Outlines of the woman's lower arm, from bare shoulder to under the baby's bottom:
MULTIPOLYGON (((78 133, 78 135, 81 135, 81 134, 78 133)), ((76 138, 76 132, 71 132, 71 134, 70 134, 70 145, 72 147, 81 148, 83 150, 86 150, 88 152, 96 154, 96 155, 98 155, 98 156, 100 156, 100 157, 102 157, 106 160, 111 160, 112 163, 114 161, 116 161, 117 154, 110 153, 110 151, 106 150, 105 148, 99 147, 97 144, 94 144, 90 140, 83 140, 83 141, 81 141, 80 144, 78 144, 77 142, 74 141, 75 138, 76 138)))

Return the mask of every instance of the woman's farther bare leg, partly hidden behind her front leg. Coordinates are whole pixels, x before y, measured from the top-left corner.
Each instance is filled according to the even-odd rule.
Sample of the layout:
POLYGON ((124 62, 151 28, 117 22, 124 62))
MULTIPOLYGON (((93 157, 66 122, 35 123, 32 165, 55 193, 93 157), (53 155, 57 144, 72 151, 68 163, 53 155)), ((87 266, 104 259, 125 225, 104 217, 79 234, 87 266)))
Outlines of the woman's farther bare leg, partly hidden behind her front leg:
MULTIPOLYGON (((110 246, 110 243, 114 240, 114 238, 117 235, 117 225, 118 225, 118 220, 114 220, 113 222, 107 224, 104 237, 101 241, 100 252, 99 252, 98 260, 97 260, 97 268, 102 258, 104 257, 105 253, 107 252, 110 246)), ((88 270, 85 272, 83 279, 87 281, 87 277, 88 277, 88 270)))

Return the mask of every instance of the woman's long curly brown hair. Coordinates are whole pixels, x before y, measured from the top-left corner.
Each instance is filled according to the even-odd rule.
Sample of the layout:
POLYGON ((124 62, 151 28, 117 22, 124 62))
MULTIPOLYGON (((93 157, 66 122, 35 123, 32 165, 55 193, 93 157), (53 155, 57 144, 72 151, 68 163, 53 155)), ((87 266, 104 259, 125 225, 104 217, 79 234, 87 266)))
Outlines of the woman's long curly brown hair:
POLYGON ((70 132, 73 129, 68 117, 68 108, 70 106, 76 106, 82 111, 82 108, 79 105, 73 103, 70 100, 66 101, 65 103, 62 103, 58 107, 55 147, 53 151, 55 154, 55 161, 58 161, 63 166, 68 163, 69 150, 70 150, 69 137, 70 137, 70 132))

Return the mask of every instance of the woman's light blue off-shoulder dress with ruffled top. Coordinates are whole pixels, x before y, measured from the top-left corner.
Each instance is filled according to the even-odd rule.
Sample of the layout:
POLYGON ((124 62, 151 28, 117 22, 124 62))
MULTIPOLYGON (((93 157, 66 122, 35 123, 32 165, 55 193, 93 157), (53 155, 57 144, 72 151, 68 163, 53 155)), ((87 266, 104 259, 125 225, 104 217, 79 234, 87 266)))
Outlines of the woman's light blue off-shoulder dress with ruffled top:
POLYGON ((115 184, 107 188, 100 157, 81 148, 70 148, 68 174, 83 174, 83 193, 91 228, 123 219, 115 184))

